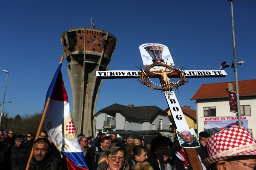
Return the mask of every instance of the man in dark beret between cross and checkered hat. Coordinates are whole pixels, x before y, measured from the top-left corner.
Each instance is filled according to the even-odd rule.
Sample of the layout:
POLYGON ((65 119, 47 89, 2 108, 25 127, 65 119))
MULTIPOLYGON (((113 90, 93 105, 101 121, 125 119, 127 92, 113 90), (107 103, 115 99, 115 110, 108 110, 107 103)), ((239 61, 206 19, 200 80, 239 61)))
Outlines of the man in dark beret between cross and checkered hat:
MULTIPOLYGON (((208 152, 207 152, 207 141, 210 137, 210 133, 207 133, 206 131, 201 131, 198 135, 200 147, 196 148, 196 151, 198 155, 203 158, 208 158, 208 152)), ((210 167, 206 167, 207 170, 211 169, 210 167)))

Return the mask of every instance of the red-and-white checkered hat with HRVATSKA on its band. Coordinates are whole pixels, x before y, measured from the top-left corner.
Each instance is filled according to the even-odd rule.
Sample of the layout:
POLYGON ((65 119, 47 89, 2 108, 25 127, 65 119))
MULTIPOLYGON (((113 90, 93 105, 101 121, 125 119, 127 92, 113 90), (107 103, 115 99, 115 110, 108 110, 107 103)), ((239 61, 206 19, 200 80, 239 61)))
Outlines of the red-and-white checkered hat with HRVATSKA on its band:
POLYGON ((256 140, 244 127, 232 127, 212 135, 208 142, 206 165, 238 155, 256 155, 256 140))

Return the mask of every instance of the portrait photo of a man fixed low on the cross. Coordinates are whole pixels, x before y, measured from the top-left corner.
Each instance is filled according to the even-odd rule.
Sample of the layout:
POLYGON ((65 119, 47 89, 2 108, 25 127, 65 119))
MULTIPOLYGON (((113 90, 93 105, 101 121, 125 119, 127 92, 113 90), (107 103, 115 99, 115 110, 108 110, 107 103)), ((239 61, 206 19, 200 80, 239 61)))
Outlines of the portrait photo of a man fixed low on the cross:
POLYGON ((179 131, 179 134, 180 134, 180 137, 179 138, 179 141, 180 141, 180 144, 182 147, 189 147, 189 148, 194 148, 194 147, 199 147, 200 144, 197 140, 196 137, 194 137, 193 139, 193 136, 196 136, 195 132, 194 132, 194 129, 182 129, 182 131, 179 131), (191 132, 193 130, 193 132, 191 132))

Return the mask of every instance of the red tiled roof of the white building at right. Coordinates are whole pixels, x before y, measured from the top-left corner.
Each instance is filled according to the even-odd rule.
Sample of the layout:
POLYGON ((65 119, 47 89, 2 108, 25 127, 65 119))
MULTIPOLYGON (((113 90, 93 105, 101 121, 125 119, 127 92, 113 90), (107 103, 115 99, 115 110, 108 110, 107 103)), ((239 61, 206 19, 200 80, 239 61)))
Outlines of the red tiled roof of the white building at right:
MULTIPOLYGON (((190 100, 228 97, 228 83, 202 84, 190 100)), ((232 83, 235 91, 235 82, 232 83)), ((238 87, 240 96, 256 95, 256 79, 238 81, 238 87)))

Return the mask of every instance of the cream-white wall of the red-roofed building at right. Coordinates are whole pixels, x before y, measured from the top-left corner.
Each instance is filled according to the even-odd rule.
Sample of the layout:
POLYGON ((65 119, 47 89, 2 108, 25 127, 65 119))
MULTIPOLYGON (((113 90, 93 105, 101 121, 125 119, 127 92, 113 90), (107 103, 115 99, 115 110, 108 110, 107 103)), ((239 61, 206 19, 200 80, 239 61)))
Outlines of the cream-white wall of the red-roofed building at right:
MULTIPOLYGON (((252 129, 254 138, 256 137, 256 97, 240 97, 240 106, 250 105, 251 116, 248 116, 248 128, 252 129)), ((230 112, 228 98, 197 100, 197 126, 198 132, 204 130, 204 107, 216 107, 216 116, 236 116, 230 112)))

